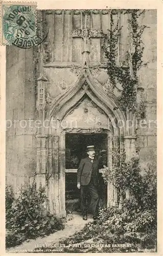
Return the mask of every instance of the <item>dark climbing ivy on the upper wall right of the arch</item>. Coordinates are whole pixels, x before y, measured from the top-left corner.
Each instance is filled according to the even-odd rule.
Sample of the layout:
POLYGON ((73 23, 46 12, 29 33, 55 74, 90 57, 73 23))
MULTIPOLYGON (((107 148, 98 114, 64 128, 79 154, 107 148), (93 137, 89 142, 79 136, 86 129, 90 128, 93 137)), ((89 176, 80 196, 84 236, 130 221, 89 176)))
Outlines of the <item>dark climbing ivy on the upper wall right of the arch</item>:
POLYGON ((131 39, 132 39, 132 49, 133 51, 127 51, 127 67, 118 66, 117 56, 118 56, 118 44, 119 37, 121 35, 122 27, 119 27, 119 20, 117 25, 113 27, 112 14, 110 16, 111 28, 105 35, 105 44, 103 49, 107 59, 107 73, 109 75, 110 83, 113 89, 117 88, 121 92, 119 97, 120 105, 124 111, 132 110, 136 104, 136 86, 138 84, 137 71, 143 66, 147 65, 142 60, 144 46, 142 41, 142 34, 147 28, 145 25, 139 25, 138 18, 144 13, 138 9, 127 10, 125 13, 130 14, 130 19, 128 22, 131 28, 131 39), (122 89, 117 87, 117 83, 120 83, 122 89))

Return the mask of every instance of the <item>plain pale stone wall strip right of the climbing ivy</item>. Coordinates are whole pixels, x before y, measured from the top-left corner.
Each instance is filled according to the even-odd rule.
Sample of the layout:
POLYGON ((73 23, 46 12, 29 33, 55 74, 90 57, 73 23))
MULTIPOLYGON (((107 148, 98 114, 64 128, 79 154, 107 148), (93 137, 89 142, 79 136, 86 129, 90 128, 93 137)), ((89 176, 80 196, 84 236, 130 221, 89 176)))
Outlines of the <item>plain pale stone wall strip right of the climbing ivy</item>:
POLYGON ((142 40, 144 42, 143 61, 148 62, 139 71, 139 91, 143 91, 145 102, 145 120, 147 125, 137 130, 137 145, 140 152, 142 168, 156 159, 156 119, 157 119, 157 13, 156 10, 146 10, 140 22, 148 26, 142 40), (146 127, 145 127, 146 126, 146 127))

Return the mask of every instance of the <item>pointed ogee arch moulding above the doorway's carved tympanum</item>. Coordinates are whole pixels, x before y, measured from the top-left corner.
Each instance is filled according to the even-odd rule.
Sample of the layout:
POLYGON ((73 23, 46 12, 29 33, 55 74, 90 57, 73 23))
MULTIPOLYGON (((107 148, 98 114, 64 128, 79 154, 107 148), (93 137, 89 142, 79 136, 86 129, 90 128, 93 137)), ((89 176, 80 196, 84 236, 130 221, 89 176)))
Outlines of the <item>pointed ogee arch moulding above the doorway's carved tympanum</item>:
POLYGON ((71 112, 77 104, 87 96, 108 116, 114 136, 125 136, 126 134, 126 117, 121 111, 120 106, 113 96, 108 96, 102 89, 101 84, 95 80, 88 67, 83 68, 77 81, 65 94, 58 96, 52 105, 51 110, 47 113, 46 119, 57 118, 62 121, 65 116, 71 112), (123 125, 117 126, 121 120, 123 125))

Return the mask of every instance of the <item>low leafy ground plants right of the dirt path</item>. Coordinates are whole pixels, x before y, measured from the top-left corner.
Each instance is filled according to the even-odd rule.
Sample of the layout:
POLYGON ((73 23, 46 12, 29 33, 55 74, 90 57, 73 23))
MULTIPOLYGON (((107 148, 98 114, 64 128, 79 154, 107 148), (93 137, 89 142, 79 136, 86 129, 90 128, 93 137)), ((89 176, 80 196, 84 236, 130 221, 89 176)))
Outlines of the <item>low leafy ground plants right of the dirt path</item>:
MULTIPOLYGON (((126 204, 127 205, 127 204, 126 204)), ((128 208, 134 208, 136 204, 130 202, 128 208)), ((76 246, 64 248, 62 252, 135 252, 139 249, 156 250, 156 230, 153 229, 153 211, 128 210, 123 208, 102 208, 100 209, 99 220, 95 225, 89 222, 85 227, 76 232, 73 236, 62 240, 65 245, 76 246), (136 220, 136 223, 134 222, 136 220), (149 228, 150 224, 150 228, 149 228), (134 230, 134 231, 131 231, 134 230), (135 231, 136 230, 136 231, 135 231), (143 231, 141 231, 143 230, 143 231), (102 247, 104 244, 132 244, 131 248, 125 247, 102 247), (82 244, 82 248, 78 247, 82 244), (84 245, 90 245, 84 246, 84 245), (99 246, 95 246, 99 245, 99 246)), ((43 248, 42 248, 43 249, 43 248)))

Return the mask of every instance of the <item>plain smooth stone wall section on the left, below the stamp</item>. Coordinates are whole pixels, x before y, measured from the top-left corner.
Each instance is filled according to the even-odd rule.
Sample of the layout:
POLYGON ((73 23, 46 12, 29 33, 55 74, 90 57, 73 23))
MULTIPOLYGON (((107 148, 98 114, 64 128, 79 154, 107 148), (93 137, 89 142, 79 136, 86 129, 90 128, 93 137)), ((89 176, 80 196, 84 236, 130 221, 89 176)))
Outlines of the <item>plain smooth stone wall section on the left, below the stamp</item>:
POLYGON ((33 52, 7 46, 6 57, 6 179, 18 190, 36 166, 33 52))

